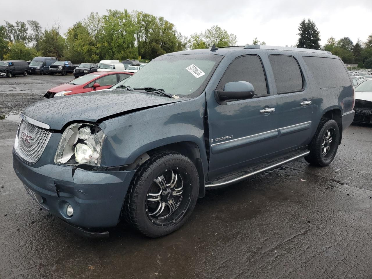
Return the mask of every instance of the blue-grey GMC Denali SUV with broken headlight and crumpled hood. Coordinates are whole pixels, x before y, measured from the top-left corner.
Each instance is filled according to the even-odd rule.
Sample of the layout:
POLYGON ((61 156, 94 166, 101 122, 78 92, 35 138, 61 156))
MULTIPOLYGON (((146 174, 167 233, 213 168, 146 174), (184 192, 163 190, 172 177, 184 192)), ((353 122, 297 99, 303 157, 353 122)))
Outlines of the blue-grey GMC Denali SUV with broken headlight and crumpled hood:
POLYGON ((354 116, 343 62, 311 49, 181 51, 116 85, 28 106, 13 149, 31 197, 88 237, 121 219, 160 237, 206 189, 301 157, 327 166, 354 116))

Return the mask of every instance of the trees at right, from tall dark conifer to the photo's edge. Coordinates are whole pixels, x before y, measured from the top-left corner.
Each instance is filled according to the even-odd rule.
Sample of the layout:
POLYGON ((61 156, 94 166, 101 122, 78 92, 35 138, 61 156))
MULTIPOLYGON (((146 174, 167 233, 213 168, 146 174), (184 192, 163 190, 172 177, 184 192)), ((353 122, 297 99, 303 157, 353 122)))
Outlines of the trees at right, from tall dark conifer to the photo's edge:
POLYGON ((358 39, 355 44, 349 37, 338 40, 330 37, 321 46, 320 32, 312 20, 303 19, 298 31, 297 47, 330 51, 333 55, 339 56, 345 64, 353 63, 358 64, 358 68, 372 68, 372 34, 368 36, 366 41, 358 39))

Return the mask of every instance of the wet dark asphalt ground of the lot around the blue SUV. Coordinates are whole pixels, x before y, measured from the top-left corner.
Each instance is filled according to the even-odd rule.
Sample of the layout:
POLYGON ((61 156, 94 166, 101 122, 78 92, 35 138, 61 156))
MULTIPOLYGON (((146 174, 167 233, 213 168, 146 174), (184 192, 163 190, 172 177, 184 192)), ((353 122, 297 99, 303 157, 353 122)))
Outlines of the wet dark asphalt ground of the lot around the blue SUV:
MULTIPOLYGON (((0 108, 18 113, 48 86, 72 78, 0 78, 0 108)), ((19 119, 6 117, 0 120, 1 279, 372 278, 372 125, 350 126, 328 167, 300 159, 208 191, 186 224, 166 237, 147 238, 119 224, 108 239, 87 240, 26 194, 12 167, 19 119)))

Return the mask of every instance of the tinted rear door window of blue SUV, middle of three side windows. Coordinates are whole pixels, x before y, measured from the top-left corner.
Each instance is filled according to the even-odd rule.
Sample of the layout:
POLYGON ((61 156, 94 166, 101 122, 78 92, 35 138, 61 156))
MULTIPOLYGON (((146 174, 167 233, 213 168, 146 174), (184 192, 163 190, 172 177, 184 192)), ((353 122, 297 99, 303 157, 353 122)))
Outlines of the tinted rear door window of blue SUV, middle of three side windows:
POLYGON ((297 60, 292 56, 270 55, 269 61, 278 94, 301 91, 303 80, 297 60))

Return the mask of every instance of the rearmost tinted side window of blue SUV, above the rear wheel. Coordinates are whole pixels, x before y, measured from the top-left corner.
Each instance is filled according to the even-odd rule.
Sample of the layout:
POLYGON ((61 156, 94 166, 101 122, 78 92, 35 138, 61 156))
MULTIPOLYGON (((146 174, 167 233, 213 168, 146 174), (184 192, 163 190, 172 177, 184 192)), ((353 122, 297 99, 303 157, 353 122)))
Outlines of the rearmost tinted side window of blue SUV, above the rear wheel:
POLYGON ((319 88, 350 86, 350 77, 337 58, 304 56, 304 61, 319 88))

